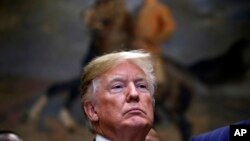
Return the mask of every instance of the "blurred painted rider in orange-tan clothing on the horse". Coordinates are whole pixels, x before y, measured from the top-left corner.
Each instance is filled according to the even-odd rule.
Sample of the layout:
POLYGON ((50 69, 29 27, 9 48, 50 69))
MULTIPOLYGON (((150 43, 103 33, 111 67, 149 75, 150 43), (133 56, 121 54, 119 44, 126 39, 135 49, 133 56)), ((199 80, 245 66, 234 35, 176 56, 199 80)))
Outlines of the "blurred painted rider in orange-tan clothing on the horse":
POLYGON ((165 83, 161 44, 175 31, 175 22, 169 8, 158 0, 144 0, 134 27, 135 48, 145 49, 154 56, 157 83, 165 83))

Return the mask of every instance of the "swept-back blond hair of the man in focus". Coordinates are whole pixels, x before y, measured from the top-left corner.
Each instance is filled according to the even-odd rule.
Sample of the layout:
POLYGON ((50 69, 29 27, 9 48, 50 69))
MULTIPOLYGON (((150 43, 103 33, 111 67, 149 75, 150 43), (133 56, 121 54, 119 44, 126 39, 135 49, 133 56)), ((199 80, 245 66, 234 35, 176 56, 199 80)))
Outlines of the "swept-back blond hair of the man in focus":
POLYGON ((154 94, 155 75, 150 53, 143 50, 120 51, 95 58, 85 68, 81 76, 81 102, 91 100, 95 93, 94 81, 105 72, 123 61, 131 61, 145 73, 150 86, 150 94, 154 94))

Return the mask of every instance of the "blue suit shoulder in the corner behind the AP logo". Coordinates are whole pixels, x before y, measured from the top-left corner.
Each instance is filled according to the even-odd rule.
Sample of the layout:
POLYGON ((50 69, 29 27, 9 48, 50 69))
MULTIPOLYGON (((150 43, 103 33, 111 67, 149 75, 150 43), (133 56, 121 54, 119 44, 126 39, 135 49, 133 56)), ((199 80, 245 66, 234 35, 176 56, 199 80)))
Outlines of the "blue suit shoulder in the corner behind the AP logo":
MULTIPOLYGON (((250 119, 234 123, 233 125, 250 125, 250 119)), ((210 132, 194 136, 190 141, 229 141, 229 130, 229 125, 224 126, 210 132)))

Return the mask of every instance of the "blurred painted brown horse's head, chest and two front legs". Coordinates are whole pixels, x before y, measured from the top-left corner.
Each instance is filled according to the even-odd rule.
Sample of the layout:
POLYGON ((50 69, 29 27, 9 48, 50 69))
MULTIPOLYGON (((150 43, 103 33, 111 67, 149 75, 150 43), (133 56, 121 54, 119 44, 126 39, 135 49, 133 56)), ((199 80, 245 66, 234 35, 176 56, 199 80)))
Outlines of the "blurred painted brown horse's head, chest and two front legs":
MULTIPOLYGON (((82 67, 96 56, 114 50, 127 49, 129 46, 131 19, 123 0, 96 0, 93 7, 82 13, 81 18, 88 27, 92 40, 87 56, 83 57, 82 67)), ((59 112, 59 118, 68 131, 74 131, 77 125, 70 114, 70 108, 79 96, 79 86, 80 77, 53 84, 47 89, 46 94, 41 96, 30 108, 26 115, 27 120, 37 121, 49 99, 67 91, 69 94, 59 112)))

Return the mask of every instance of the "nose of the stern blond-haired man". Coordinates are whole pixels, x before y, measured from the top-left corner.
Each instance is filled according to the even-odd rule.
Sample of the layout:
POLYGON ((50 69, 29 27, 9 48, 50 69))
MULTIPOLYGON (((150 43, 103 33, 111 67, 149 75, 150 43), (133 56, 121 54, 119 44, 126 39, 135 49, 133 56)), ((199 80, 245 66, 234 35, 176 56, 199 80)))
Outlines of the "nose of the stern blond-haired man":
POLYGON ((136 86, 133 82, 130 82, 128 85, 128 92, 127 92, 127 101, 128 102, 138 102, 139 99, 139 93, 136 89, 136 86))

